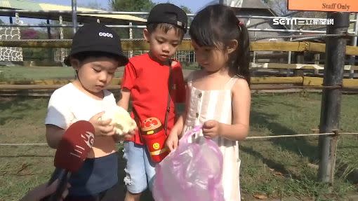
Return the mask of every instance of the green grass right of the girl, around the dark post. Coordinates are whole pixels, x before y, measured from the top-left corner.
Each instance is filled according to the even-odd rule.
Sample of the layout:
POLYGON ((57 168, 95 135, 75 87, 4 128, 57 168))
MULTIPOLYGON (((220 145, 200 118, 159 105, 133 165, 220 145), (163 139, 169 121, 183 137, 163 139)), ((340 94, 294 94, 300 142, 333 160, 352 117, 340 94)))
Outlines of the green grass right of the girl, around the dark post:
MULTIPOLYGON (((357 132, 357 95, 344 95, 340 117, 340 132, 357 132)), ((318 128, 321 95, 256 95, 251 107, 251 135, 308 134, 318 128)), ((338 159, 341 165, 357 168, 357 151, 353 146, 357 137, 341 136, 338 143, 338 159)), ((343 197, 357 187, 346 176, 337 175, 333 193, 328 186, 318 183, 318 141, 316 137, 274 139, 270 141, 244 141, 240 144, 241 188, 249 194, 265 193, 272 197, 326 195, 343 197)))

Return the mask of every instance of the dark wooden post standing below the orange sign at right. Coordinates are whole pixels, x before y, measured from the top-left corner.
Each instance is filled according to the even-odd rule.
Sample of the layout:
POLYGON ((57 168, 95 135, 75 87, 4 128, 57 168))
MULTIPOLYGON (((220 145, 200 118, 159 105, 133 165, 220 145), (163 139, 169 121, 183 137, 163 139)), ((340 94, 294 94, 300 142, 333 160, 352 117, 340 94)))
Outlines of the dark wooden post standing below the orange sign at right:
MULTIPOLYGON (((345 34, 349 27, 350 13, 328 13, 327 18, 333 19, 333 25, 327 26, 327 34, 345 34)), ((343 37, 330 37, 326 39, 326 65, 324 67, 325 86, 341 86, 343 84, 343 67, 345 64, 345 45, 347 41, 343 37)), ((321 119, 319 132, 333 132, 338 130, 340 116, 340 99, 342 88, 324 88, 321 100, 321 119)), ((319 137, 319 171, 318 180, 321 182, 333 182, 335 154, 332 153, 336 146, 333 137, 319 137)))

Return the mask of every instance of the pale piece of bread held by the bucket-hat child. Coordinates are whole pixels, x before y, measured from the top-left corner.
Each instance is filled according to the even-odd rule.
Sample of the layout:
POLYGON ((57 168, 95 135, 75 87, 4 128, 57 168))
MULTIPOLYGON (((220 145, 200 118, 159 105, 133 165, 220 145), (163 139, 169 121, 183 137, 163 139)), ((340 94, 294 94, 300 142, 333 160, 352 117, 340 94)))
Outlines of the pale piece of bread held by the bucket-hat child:
POLYGON ((137 127, 135 120, 120 106, 107 109, 102 117, 100 117, 100 120, 107 120, 109 118, 112 119, 110 125, 114 125, 114 131, 119 135, 131 132, 137 127))

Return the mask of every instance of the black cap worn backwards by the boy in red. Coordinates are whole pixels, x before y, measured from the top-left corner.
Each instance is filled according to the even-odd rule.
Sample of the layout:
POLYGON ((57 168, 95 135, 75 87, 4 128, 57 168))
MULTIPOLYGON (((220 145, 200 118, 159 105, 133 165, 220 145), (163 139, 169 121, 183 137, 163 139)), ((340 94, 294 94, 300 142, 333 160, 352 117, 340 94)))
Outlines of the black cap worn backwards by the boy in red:
POLYGON ((173 4, 157 4, 152 8, 147 19, 151 23, 168 23, 187 32, 187 13, 173 4))

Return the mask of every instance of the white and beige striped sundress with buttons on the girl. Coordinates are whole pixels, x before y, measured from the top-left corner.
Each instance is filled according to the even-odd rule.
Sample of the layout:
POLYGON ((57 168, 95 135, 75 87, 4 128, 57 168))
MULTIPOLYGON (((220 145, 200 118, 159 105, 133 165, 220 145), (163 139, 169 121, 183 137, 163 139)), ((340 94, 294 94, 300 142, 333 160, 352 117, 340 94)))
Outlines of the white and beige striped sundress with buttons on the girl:
MULTIPOLYGON (((188 76, 187 83, 190 90, 189 101, 187 102, 187 118, 183 129, 185 132, 192 130, 195 125, 202 125, 206 120, 218 120, 220 123, 232 124, 232 87, 239 79, 234 76, 220 90, 199 90, 192 86, 192 74, 188 76)), ((200 143, 204 137, 202 132, 193 136, 194 141, 200 143)), ((192 141, 190 140, 190 141, 192 141)), ((225 201, 239 201, 239 142, 213 138, 220 151, 223 153, 223 189, 225 201)), ((210 156, 208 156, 210 157, 210 156)))

